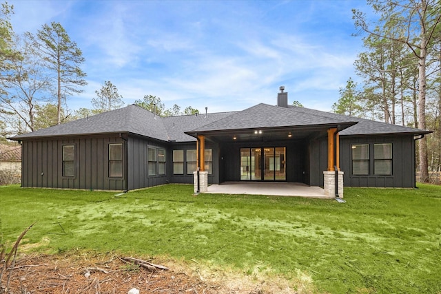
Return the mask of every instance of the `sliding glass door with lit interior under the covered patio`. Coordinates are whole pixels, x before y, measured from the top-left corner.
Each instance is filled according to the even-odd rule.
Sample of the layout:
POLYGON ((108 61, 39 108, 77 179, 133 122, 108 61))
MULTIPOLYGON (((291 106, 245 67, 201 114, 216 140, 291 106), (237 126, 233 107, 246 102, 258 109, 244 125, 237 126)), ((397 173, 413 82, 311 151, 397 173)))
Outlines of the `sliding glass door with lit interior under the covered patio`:
POLYGON ((240 180, 286 180, 285 147, 240 149, 240 180))

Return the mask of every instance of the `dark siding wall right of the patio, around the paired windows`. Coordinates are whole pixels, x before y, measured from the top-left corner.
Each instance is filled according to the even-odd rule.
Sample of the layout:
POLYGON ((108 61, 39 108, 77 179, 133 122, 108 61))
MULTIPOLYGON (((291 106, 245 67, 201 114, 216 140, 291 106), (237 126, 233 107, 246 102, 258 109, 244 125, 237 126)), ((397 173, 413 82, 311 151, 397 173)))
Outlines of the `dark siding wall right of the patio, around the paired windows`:
POLYGON ((415 141, 413 136, 340 136, 340 169, 345 171, 345 187, 415 187, 415 141), (373 144, 392 144, 392 174, 377 176, 373 174, 373 144), (351 146, 369 144, 370 160, 367 176, 352 175, 351 146))

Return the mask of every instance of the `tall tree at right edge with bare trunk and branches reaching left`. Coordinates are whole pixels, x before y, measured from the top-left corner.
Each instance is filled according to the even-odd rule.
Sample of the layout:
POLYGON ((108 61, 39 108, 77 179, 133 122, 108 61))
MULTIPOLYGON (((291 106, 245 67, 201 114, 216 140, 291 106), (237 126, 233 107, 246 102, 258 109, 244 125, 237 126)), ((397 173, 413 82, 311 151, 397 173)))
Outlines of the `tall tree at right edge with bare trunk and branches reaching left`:
MULTIPOLYGON (((418 59, 418 127, 426 129, 427 58, 434 32, 441 22, 440 2, 438 0, 368 0, 368 3, 381 15, 378 21, 380 24, 390 22, 407 28, 405 36, 388 36, 382 32, 375 32, 368 25, 365 14, 360 10, 353 10, 353 19, 357 28, 369 34, 406 44, 418 59)), ((422 138, 419 143, 420 178, 422 182, 428 182, 427 138, 422 138)))

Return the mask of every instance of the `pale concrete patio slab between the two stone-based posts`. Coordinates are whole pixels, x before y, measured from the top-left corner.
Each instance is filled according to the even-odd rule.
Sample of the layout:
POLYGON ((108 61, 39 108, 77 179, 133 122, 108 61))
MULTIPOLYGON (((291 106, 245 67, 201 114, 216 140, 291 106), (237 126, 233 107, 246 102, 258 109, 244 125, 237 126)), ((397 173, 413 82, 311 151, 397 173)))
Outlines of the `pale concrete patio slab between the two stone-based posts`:
POLYGON ((320 187, 310 187, 298 182, 223 182, 220 185, 208 186, 208 191, 205 193, 334 199, 326 196, 325 190, 320 187))

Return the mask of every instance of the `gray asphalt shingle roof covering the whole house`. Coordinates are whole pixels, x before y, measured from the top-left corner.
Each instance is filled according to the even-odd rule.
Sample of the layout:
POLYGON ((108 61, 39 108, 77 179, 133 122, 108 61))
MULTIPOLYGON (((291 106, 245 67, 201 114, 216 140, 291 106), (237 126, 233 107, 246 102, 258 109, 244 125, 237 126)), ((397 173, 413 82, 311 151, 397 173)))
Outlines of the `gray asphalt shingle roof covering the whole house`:
POLYGON ((260 103, 241 112, 221 112, 207 114, 207 116, 205 114, 171 116, 167 118, 154 116, 152 112, 138 105, 129 105, 115 109, 112 112, 105 112, 63 125, 15 136, 13 139, 130 132, 163 141, 189 142, 196 139, 185 134, 185 132, 210 132, 255 127, 300 127, 338 123, 357 123, 342 130, 340 132, 342 136, 429 133, 421 129, 380 123, 304 107, 278 107, 260 103))

